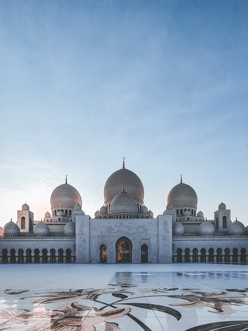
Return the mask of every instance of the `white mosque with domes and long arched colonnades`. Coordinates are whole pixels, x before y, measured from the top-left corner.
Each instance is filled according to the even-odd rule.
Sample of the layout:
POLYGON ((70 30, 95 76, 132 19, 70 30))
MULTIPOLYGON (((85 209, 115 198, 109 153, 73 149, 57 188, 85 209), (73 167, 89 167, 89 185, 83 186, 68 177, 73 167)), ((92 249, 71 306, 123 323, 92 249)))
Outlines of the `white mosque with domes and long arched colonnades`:
POLYGON ((104 186, 104 204, 85 215, 65 180, 51 195, 51 213, 35 221, 28 204, 0 232, 0 263, 217 263, 248 265, 248 226, 221 202, 214 218, 197 212, 197 195, 183 183, 154 217, 139 177, 123 167, 104 186))

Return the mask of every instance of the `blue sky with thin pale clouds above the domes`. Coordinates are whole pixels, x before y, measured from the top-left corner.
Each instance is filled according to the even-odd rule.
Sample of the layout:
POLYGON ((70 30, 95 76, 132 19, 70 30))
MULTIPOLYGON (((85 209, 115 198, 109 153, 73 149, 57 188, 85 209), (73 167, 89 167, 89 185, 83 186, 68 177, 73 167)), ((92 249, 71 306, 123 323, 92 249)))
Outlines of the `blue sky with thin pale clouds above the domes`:
POLYGON ((0 1, 0 210, 68 183, 91 216, 134 171, 155 216, 183 181, 248 224, 247 1, 0 1))

